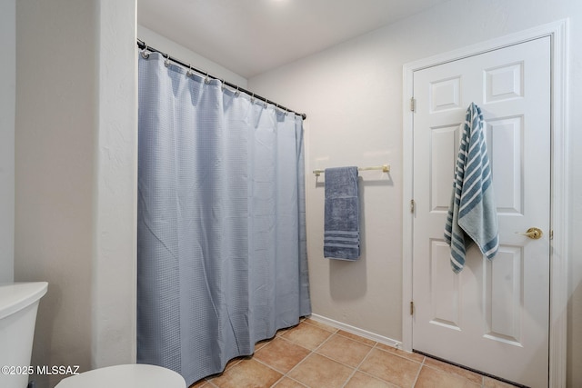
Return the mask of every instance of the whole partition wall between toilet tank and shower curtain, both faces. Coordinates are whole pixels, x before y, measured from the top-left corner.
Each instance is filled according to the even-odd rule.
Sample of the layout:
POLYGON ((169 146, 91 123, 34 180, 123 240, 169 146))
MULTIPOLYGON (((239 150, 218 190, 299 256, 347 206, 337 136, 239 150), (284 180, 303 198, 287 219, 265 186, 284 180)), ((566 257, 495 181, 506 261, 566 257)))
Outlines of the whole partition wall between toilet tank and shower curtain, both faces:
POLYGON ((49 283, 33 364, 135 362, 135 0, 18 1, 16 63, 15 280, 49 283))

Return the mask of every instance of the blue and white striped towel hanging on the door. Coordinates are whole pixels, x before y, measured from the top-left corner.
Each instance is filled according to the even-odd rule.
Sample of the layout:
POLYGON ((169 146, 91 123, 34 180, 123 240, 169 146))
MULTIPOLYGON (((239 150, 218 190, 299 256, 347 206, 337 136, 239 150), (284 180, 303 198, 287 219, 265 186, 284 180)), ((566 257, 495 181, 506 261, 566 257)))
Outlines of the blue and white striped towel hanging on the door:
POLYGON ((461 134, 445 241, 451 246, 451 266, 455 273, 463 269, 465 254, 472 242, 489 260, 499 248, 497 209, 483 133, 483 114, 473 103, 467 109, 461 134))

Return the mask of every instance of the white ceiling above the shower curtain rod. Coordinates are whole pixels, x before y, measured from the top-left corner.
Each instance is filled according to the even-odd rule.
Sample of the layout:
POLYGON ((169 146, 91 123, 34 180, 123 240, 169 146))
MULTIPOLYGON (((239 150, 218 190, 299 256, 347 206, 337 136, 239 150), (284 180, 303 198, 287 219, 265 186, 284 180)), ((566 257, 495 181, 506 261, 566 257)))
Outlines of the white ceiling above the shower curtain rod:
POLYGON ((251 78, 445 1, 137 0, 137 23, 251 78))

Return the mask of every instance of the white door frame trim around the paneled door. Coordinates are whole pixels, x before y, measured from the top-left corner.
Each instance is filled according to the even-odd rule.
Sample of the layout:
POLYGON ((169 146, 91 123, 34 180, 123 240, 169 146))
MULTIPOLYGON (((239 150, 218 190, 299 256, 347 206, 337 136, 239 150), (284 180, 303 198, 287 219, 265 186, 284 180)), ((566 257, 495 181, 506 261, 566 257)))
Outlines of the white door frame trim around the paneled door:
POLYGON ((402 246, 402 347, 412 351, 413 315, 413 97, 414 72, 479 55, 510 45, 550 36, 551 55, 551 216, 553 238, 550 241, 550 310, 549 310, 549 386, 566 386, 567 364, 567 19, 540 25, 526 31, 471 45, 441 55, 434 55, 404 65, 403 68, 403 246, 402 246))

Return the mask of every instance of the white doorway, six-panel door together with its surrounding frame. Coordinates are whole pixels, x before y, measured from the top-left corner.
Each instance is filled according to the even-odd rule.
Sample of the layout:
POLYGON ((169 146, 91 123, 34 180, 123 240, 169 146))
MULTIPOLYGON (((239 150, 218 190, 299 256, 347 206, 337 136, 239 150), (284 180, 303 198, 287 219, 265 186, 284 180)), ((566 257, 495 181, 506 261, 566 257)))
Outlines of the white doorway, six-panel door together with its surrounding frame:
POLYGON ((547 386, 548 379, 552 386, 560 386, 557 382, 565 378, 564 361, 559 362, 559 354, 565 350, 565 338, 560 337, 564 316, 556 310, 558 304, 566 304, 563 295, 567 278, 563 260, 557 260, 558 255, 564 256, 566 247, 565 193, 557 185, 565 179, 559 170, 566 164, 560 157, 565 149, 560 142, 565 136, 564 125, 560 123, 564 117, 561 93, 565 88, 565 75, 559 67, 564 55, 560 45, 565 39, 564 25, 543 26, 405 66, 405 98, 414 96, 416 106, 411 106, 414 113, 405 114, 403 346, 406 350, 431 353, 533 386, 547 386), (547 56, 532 57, 541 52, 547 56), (535 65, 536 61, 541 65, 535 65), (477 70, 477 67, 481 68, 477 70), (540 73, 530 73, 536 68, 534 73, 540 73), (467 72, 475 76, 471 78, 467 72), (542 74, 546 74, 547 81, 538 82, 542 74), (534 82, 527 81, 529 76, 534 82), (547 99, 540 99, 540 94, 545 94, 547 99), (529 117, 526 111, 520 110, 527 109, 530 104, 525 103, 527 97, 533 97, 530 98, 532 106, 544 105, 545 111, 536 105, 529 117), (444 219, 440 223, 439 214, 447 211, 458 124, 470 102, 482 104, 486 115, 487 142, 494 148, 489 150, 493 153, 494 185, 501 203, 497 205, 500 230, 506 237, 505 240, 502 237, 502 245, 505 245, 497 260, 484 262, 479 254, 472 253, 470 256, 475 257, 471 258, 471 264, 457 276, 443 259, 447 258, 447 245, 442 242, 442 234, 438 235, 440 225, 444 227, 444 219), (523 106, 515 110, 517 104, 523 106), (431 115, 433 118, 427 118, 431 115), (527 134, 530 124, 536 122, 542 132, 546 131, 541 135, 542 139, 546 136, 546 140, 534 143, 541 148, 546 144, 546 156, 539 154, 540 148, 526 140, 536 137, 527 134), (423 127, 430 130, 423 134, 423 127), (422 148, 420 144, 429 148, 422 148), (527 170, 524 153, 529 147, 532 147, 534 160, 546 168, 546 172, 541 173, 547 184, 547 190, 541 190, 546 193, 542 197, 547 204, 545 209, 537 204, 532 204, 530 210, 524 207, 527 198, 537 196, 529 195, 533 189, 524 185, 531 183, 532 178, 522 175, 527 170), (550 195, 554 201, 551 205, 550 195), (546 217, 539 221, 547 229, 546 240, 537 241, 537 245, 517 234, 533 225, 522 231, 522 225, 512 224, 517 219, 526 220, 519 214, 531 214, 534 210, 546 217), (559 238, 557 229, 562 231, 559 238), (531 262, 535 260, 527 259, 528 251, 540 256, 535 259, 534 266, 541 268, 541 272, 531 273, 531 262), (532 278, 528 279, 529 276, 532 278), (548 307, 550 295, 551 310, 548 307), (526 305, 528 301, 541 306, 540 311, 532 313, 526 305), (532 333, 526 334, 530 329, 532 333), (542 338, 539 338, 540 333, 542 338), (467 340, 467 335, 475 341, 467 340), (528 335, 539 342, 525 340, 528 335), (464 347, 470 351, 463 353, 464 347), (529 349, 527 355, 508 350, 526 348, 529 349), (512 356, 504 359, 503 354, 512 356), (524 360, 523 367, 531 370, 512 373, 516 370, 517 359, 524 360), (507 364, 512 367, 505 367, 507 364), (529 380, 521 377, 531 375, 534 370, 541 373, 529 380))

